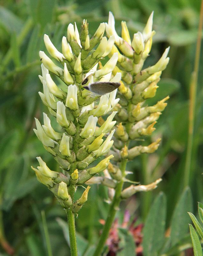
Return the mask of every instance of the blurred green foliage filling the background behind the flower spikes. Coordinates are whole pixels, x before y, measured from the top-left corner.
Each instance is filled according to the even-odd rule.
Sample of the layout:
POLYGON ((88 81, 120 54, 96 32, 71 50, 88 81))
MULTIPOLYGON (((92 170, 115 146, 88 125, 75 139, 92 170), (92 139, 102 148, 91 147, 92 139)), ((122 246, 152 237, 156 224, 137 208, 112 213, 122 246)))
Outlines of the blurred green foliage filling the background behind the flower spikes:
MULTIPOLYGON (((67 243, 69 238, 64 222, 65 211, 61 209, 48 189, 36 180, 30 168, 31 165, 36 166, 36 156, 42 156, 52 170, 58 168, 33 132, 34 116, 41 119, 42 112, 45 111, 38 95, 38 91, 41 90, 38 79, 38 75, 41 74, 38 52, 45 48, 44 33, 51 37, 52 42, 60 50, 62 36, 66 35, 69 23, 76 21, 79 26, 81 20, 87 19, 90 34, 94 34, 100 22, 108 20, 109 11, 115 15, 117 31, 121 32, 120 22, 126 20, 132 36, 133 33, 142 31, 148 16, 154 10, 153 27, 156 35, 151 56, 147 59, 147 66, 155 63, 163 50, 168 45, 171 46, 170 62, 162 74, 157 94, 148 101, 148 104, 154 104, 157 100, 170 96, 168 106, 156 124, 152 138, 154 140, 158 136, 162 137, 162 144, 156 153, 137 157, 127 167, 129 171, 133 171, 130 177, 132 180, 147 184, 162 177, 163 181, 155 191, 136 194, 123 202, 122 211, 118 212, 117 217, 119 222, 122 222, 126 208, 132 220, 137 217, 137 223, 144 222, 154 196, 159 191, 163 191, 165 195, 160 194, 154 204, 158 205, 155 206, 156 211, 159 208, 161 210, 156 214, 163 219, 166 229, 170 224, 172 226, 171 232, 175 234, 172 245, 175 246, 181 242, 180 238, 188 236, 189 227, 186 224, 189 220, 187 216, 183 217, 185 212, 181 210, 192 211, 191 197, 193 197, 194 209, 197 211, 196 202, 203 198, 202 54, 192 149, 190 177, 192 194, 190 193, 190 199, 187 195, 187 200, 184 197, 186 195, 182 194, 188 133, 189 84, 194 63, 199 9, 200 0, 0 1, 0 255, 11 255, 13 249, 14 255, 48 255, 41 218, 42 210, 47 219, 53 255, 66 256, 69 253, 67 243), (178 200, 180 204, 174 211, 178 200), (186 228, 177 226, 175 214, 179 219, 183 217, 186 228)), ((108 204, 105 202, 107 197, 106 188, 92 186, 88 201, 79 212, 76 226, 80 255, 90 255, 87 247, 91 248, 98 239, 102 228, 99 220, 105 219, 107 215, 108 204)), ((154 211, 153 207, 150 212, 154 211)), ((146 227, 150 223, 154 228, 159 228, 153 221, 155 221, 153 215, 148 216, 146 227)), ((163 235, 165 229, 163 226, 160 228, 163 235)), ((146 228, 144 234, 145 230, 146 228)), ((127 255, 128 251, 125 250, 128 250, 129 246, 134 248, 131 243, 132 237, 124 230, 120 230, 119 234, 121 247, 127 255)), ((150 234, 154 236, 153 232, 150 234)), ((154 239, 154 244, 158 243, 157 248, 160 250, 163 237, 159 240, 156 237, 151 238, 154 239)), ((150 249, 152 251, 148 250, 145 246, 146 239, 147 237, 144 240, 145 255, 152 255, 150 253, 156 248, 150 249)), ((169 248, 167 246, 164 245, 165 251, 169 248)), ((118 255, 124 255, 122 250, 118 255)), ((177 255, 177 250, 171 250, 171 253, 166 255, 177 255)))

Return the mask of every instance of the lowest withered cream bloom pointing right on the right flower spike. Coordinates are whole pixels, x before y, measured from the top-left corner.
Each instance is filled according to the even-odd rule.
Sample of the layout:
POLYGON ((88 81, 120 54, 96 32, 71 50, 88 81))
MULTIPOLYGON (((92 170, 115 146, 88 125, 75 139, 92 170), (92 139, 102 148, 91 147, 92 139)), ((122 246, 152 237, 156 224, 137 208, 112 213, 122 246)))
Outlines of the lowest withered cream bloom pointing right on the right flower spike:
POLYGON ((131 185, 130 187, 125 188, 122 191, 121 197, 128 198, 128 197, 132 196, 133 194, 140 192, 140 191, 145 191, 145 192, 150 191, 152 189, 157 188, 157 184, 161 181, 162 181, 162 179, 158 179, 149 185, 137 185, 137 186, 131 185))

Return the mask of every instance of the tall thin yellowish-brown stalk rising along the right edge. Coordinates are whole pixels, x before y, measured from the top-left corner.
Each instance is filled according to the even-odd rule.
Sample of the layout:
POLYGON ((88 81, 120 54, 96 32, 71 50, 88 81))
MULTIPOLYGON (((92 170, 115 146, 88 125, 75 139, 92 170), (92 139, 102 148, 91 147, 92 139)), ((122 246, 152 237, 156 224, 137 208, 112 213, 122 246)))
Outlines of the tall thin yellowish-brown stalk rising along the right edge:
POLYGON ((201 2, 201 10, 200 10, 200 17, 199 17, 199 29, 198 29, 198 37, 197 37, 194 71, 192 73, 192 80, 190 84, 189 127, 188 127, 188 143, 187 143, 187 153, 186 153, 186 162, 185 162, 185 172, 184 172, 184 187, 187 187, 189 185, 190 175, 192 173, 191 158, 192 158, 192 147, 193 147, 193 137, 194 137, 195 105, 196 105, 196 94, 197 94, 197 79, 198 79, 198 71, 199 71, 202 27, 203 27, 203 0, 201 2))

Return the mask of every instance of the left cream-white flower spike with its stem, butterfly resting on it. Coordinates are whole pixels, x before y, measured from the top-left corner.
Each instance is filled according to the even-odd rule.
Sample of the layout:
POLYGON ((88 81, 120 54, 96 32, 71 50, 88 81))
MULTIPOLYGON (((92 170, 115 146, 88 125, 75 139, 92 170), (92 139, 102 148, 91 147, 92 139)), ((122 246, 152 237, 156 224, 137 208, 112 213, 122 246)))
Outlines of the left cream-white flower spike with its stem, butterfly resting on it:
MULTIPOLYGON (((90 38, 86 20, 83 21, 80 32, 76 23, 69 24, 67 37, 62 38, 62 53, 52 44, 49 36, 44 35, 47 51, 58 64, 45 52, 39 53, 42 62, 42 75, 39 78, 43 85, 43 92, 39 92, 39 95, 51 115, 49 118, 43 113, 42 125, 35 118, 37 129, 34 129, 34 132, 44 148, 58 162, 61 172, 50 170, 41 157, 37 157, 40 166, 32 169, 37 179, 49 188, 67 213, 71 256, 77 255, 74 214, 79 212, 87 201, 90 189, 90 186, 87 186, 81 197, 75 201, 77 187, 104 171, 113 157, 107 156, 96 166, 88 168, 98 157, 107 154, 113 144, 111 139, 114 131, 111 129, 116 122, 113 118, 117 112, 112 112, 112 108, 119 101, 116 99, 116 90, 108 93, 108 101, 101 97, 99 104, 94 106, 100 95, 90 94, 84 88, 84 85, 94 82, 109 82, 114 79, 115 83, 119 83, 121 79, 120 74, 114 76, 111 73, 117 63, 117 54, 112 56, 102 69, 97 69, 98 62, 109 54, 114 44, 114 36, 107 40, 103 37, 104 31, 105 24, 101 23, 90 38), (54 76, 61 79, 63 88, 66 86, 66 89, 61 89, 54 82, 54 76), (112 113, 100 125, 98 118, 108 115, 110 111, 112 113), (60 131, 52 127, 54 118, 61 126, 60 131), (105 135, 106 140, 102 139, 105 135)), ((108 180, 104 181, 104 184, 114 186, 114 182, 108 183, 108 180)))

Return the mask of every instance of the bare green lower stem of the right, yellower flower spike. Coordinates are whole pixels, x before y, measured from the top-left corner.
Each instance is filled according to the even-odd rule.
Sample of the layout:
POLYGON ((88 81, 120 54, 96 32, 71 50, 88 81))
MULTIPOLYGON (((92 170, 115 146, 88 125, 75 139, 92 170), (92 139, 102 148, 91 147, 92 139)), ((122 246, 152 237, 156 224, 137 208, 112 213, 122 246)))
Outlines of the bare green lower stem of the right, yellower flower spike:
MULTIPOLYGON (((126 164, 127 164, 127 160, 122 160, 122 162, 120 164, 120 169, 121 169, 121 172, 123 174, 123 177, 125 176, 126 164)), ((121 201, 121 192, 122 192, 122 189, 123 189, 123 184, 124 184, 123 180, 121 180, 117 184, 116 191, 115 191, 115 196, 114 196, 113 201, 112 201, 112 203, 110 205, 110 209, 109 209, 108 216, 107 216, 104 228, 103 228, 103 232, 101 234, 99 243, 97 244, 97 247, 96 247, 96 249, 94 251, 93 256, 101 255, 101 252, 103 250, 105 242, 106 242, 106 240, 107 240, 107 238, 109 236, 110 228, 112 226, 112 223, 114 221, 116 212, 117 212, 117 210, 119 208, 119 204, 120 204, 120 201, 121 201)))

